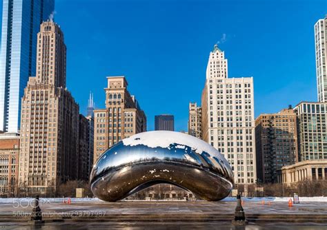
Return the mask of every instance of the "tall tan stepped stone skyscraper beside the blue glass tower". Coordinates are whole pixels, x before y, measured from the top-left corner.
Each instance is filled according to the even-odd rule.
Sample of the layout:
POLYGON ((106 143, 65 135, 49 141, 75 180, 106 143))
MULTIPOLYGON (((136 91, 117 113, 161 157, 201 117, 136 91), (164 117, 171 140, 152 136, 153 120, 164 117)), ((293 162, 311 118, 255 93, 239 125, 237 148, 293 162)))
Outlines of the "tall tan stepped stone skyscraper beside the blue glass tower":
POLYGON ((28 194, 55 192, 78 176, 79 105, 66 89, 63 32, 47 21, 37 38, 37 76, 21 103, 19 187, 28 194))

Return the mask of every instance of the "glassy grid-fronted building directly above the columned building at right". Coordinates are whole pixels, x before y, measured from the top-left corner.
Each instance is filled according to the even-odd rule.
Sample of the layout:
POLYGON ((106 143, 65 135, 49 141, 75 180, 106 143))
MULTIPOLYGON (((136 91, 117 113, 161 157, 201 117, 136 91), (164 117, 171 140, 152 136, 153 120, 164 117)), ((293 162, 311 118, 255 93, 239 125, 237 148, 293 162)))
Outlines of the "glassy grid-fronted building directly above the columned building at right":
POLYGON ((327 159, 327 103, 301 102, 297 114, 299 161, 327 159))

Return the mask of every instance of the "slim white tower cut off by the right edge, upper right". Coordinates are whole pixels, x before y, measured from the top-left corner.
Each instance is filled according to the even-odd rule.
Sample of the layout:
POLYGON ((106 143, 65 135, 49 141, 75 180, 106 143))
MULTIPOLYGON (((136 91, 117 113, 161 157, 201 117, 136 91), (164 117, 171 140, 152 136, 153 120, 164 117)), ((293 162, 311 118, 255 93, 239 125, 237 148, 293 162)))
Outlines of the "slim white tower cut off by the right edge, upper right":
POLYGON ((316 72, 318 101, 327 102, 327 15, 315 23, 315 50, 316 50, 316 72))

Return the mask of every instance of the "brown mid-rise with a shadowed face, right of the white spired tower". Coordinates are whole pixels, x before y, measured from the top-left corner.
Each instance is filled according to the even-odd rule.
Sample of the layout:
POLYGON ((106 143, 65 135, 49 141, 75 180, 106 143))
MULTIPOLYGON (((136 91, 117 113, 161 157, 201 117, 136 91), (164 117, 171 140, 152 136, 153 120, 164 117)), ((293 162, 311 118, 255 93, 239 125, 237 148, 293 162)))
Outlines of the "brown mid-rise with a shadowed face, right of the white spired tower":
POLYGON ((258 181, 277 182, 278 169, 298 162, 297 115, 292 107, 258 116, 255 143, 258 181))

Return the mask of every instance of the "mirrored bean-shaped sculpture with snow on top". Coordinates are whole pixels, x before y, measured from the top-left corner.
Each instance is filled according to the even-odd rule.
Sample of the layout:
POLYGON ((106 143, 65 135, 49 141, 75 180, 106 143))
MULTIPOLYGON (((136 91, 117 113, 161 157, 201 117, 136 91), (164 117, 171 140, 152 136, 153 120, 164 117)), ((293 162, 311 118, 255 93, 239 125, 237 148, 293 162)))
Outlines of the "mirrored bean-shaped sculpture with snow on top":
POLYGON ((168 131, 121 140, 100 156, 90 175, 93 194, 110 202, 159 183, 215 201, 228 196, 233 176, 217 149, 194 136, 168 131))

